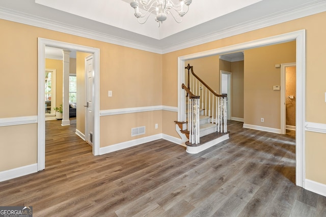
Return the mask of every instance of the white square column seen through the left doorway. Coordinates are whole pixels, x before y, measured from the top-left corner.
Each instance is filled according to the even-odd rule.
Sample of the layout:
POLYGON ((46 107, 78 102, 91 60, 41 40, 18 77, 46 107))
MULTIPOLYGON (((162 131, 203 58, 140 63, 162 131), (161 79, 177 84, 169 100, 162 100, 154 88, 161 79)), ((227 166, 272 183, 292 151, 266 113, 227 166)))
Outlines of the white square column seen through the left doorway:
POLYGON ((63 50, 63 76, 62 76, 62 126, 70 125, 69 120, 69 65, 70 50, 63 50))

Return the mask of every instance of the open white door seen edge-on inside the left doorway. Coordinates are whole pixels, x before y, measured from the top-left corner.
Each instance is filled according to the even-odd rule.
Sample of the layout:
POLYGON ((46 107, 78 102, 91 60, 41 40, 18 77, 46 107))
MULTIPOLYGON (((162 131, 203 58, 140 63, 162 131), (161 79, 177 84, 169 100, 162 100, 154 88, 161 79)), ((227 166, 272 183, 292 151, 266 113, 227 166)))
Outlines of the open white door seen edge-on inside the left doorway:
POLYGON ((85 111, 85 139, 93 146, 94 141, 94 68, 93 55, 85 58, 86 71, 86 111, 85 111))

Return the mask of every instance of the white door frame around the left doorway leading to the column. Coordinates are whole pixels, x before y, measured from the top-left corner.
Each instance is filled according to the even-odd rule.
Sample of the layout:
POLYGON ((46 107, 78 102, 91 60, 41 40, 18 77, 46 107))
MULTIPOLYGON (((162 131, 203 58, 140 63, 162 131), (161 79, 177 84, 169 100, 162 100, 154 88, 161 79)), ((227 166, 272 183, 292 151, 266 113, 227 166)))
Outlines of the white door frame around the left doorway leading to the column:
POLYGON ((44 108, 44 79, 45 79, 45 46, 58 47, 66 50, 77 50, 92 53, 94 57, 94 145, 93 154, 99 154, 99 72, 100 50, 94 47, 76 45, 66 42, 38 38, 38 112, 37 112, 37 170, 45 169, 45 108, 44 108))

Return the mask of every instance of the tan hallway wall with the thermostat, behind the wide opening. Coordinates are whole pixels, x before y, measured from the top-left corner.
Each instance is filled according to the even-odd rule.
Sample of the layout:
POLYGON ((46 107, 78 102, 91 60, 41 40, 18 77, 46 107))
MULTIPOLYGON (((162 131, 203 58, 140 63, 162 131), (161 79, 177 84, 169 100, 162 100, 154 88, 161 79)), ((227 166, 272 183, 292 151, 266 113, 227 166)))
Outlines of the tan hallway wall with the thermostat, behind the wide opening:
POLYGON ((244 51, 244 123, 281 129, 281 68, 295 62, 295 41, 244 51), (264 122, 260 121, 264 118, 264 122))

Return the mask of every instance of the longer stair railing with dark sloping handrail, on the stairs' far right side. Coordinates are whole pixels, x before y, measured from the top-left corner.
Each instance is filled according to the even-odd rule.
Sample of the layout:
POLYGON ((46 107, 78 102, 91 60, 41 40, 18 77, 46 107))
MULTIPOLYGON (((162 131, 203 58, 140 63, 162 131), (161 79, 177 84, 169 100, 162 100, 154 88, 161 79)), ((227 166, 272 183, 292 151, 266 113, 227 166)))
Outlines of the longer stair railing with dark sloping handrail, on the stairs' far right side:
POLYGON ((211 123, 218 126, 218 132, 227 133, 227 95, 219 95, 210 88, 193 70, 193 66, 188 64, 185 69, 188 70, 189 92, 193 92, 200 97, 200 109, 210 118, 211 123), (191 71, 191 73, 190 73, 191 71))

